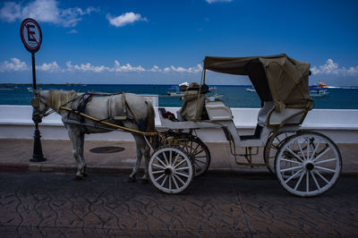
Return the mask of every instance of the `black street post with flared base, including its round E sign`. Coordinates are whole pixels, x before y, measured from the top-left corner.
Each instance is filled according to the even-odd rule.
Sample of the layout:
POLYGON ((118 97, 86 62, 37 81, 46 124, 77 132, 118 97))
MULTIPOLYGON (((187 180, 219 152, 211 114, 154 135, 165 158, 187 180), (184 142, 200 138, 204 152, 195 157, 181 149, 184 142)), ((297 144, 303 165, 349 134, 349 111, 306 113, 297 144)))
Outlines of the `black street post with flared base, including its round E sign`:
MULTIPOLYGON (((35 64, 35 53, 38 52, 39 47, 42 43, 42 32, 39 28, 38 22, 27 18, 21 22, 20 35, 23 46, 31 53, 32 61, 32 88, 36 89, 36 64, 35 64)), ((35 123, 34 132, 34 147, 33 155, 30 159, 31 162, 42 162, 46 158, 42 153, 41 146, 41 135, 38 130, 38 123, 41 122, 41 118, 38 116, 38 106, 34 107, 35 114, 32 116, 32 121, 35 123), (37 115, 37 116, 35 116, 37 115)))

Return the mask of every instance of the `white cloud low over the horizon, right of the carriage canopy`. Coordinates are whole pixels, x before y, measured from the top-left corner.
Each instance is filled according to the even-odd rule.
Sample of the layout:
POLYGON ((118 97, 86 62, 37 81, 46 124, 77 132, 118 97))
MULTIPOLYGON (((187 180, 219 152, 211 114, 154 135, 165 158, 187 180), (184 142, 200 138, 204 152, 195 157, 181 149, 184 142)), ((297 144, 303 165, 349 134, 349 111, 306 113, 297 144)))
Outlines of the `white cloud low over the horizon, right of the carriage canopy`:
POLYGON ((339 65, 333 62, 332 59, 328 59, 326 64, 320 66, 311 67, 311 72, 316 74, 335 74, 335 75, 358 75, 358 66, 352 66, 346 69, 345 67, 339 67, 339 65))

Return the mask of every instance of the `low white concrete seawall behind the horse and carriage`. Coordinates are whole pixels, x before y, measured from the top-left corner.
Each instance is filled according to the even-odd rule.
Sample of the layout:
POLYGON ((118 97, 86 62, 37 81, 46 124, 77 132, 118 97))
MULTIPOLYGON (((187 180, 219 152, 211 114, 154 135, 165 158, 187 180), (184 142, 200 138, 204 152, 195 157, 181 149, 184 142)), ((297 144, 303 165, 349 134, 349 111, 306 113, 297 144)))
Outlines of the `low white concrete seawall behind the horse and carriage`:
MULTIPOLYGON (((178 107, 166 107, 175 113, 178 107)), ((251 134, 257 123, 259 108, 231 108, 234 124, 240 134, 251 134)), ((158 110, 156 110, 158 114, 158 110)), ((0 106, 0 139, 31 139, 34 126, 31 120, 31 106, 0 106)), ((159 116, 156 126, 161 127, 159 116)), ((305 118, 303 129, 313 129, 327 134, 337 143, 358 143, 358 110, 313 109, 305 118)), ((43 139, 68 140, 67 132, 61 117, 52 114, 40 123, 43 139)), ((226 141, 224 133, 219 129, 198 130, 201 140, 210 142, 226 141)), ((126 132, 109 132, 86 135, 86 140, 133 140, 126 132)))

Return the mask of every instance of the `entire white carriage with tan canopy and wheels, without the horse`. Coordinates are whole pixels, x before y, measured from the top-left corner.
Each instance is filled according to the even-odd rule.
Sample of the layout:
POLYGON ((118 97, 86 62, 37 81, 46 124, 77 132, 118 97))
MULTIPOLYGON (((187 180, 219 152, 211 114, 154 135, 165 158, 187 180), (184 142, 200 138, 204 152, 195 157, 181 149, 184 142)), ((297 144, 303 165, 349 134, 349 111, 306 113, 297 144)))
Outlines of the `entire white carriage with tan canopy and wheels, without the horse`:
POLYGON ((208 169, 209 149, 192 134, 202 128, 223 129, 236 164, 268 166, 283 187, 294 195, 316 196, 337 183, 342 168, 337 145, 325 135, 301 130, 305 116, 313 107, 308 89, 310 64, 285 54, 207 56, 200 87, 205 86, 206 70, 249 76, 262 106, 255 132, 249 136, 239 135, 230 108, 221 101, 203 99, 200 89, 196 94, 191 92, 187 102, 184 98, 183 107, 177 113, 179 122, 165 118, 164 109, 159 108, 162 126, 171 132, 165 134, 164 146, 156 149, 149 162, 150 180, 160 191, 184 191, 195 175, 204 174, 208 169), (180 136, 183 132, 184 136, 180 136), (245 153, 236 153, 237 148, 244 148, 245 153), (264 163, 253 162, 252 157, 258 154, 254 148, 256 151, 263 148, 264 163), (201 153, 201 159, 196 154, 198 150, 207 151, 201 153), (178 157, 182 158, 181 165, 175 166, 178 157), (237 157, 243 160, 238 161, 237 157))

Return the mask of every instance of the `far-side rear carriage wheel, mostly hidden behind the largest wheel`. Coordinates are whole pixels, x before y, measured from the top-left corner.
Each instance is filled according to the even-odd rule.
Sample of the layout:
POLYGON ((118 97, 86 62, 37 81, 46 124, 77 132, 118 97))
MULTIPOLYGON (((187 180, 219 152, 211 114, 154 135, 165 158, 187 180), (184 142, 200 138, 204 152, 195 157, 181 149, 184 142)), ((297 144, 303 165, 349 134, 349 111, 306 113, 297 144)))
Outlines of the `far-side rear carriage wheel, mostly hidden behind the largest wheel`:
POLYGON ((263 161, 268 165, 268 170, 272 174, 276 174, 275 172, 275 157, 278 149, 282 145, 282 143, 286 140, 287 137, 294 135, 295 132, 278 132, 273 133, 269 138, 268 142, 263 149, 263 161))

